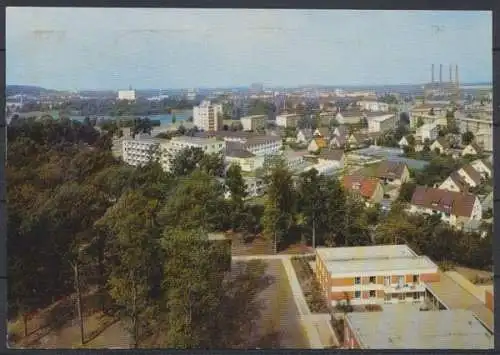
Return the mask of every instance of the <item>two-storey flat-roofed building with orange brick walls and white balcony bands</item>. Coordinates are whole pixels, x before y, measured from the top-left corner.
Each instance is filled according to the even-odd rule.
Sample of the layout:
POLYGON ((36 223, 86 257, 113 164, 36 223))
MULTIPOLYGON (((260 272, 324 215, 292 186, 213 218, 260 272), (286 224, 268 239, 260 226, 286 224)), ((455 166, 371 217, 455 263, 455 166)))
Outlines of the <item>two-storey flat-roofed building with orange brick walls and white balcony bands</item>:
POLYGON ((318 248, 316 277, 332 306, 422 301, 438 266, 407 245, 318 248))

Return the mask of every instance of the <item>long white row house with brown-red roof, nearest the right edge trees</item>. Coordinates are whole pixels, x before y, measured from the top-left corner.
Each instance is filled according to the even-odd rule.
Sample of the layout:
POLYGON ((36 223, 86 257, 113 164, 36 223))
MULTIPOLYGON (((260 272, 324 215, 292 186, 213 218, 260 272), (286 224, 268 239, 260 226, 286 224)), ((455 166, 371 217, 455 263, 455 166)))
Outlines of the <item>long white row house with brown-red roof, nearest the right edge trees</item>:
POLYGON ((481 202, 477 196, 424 186, 415 188, 408 211, 439 215, 443 222, 456 228, 482 219, 481 202))

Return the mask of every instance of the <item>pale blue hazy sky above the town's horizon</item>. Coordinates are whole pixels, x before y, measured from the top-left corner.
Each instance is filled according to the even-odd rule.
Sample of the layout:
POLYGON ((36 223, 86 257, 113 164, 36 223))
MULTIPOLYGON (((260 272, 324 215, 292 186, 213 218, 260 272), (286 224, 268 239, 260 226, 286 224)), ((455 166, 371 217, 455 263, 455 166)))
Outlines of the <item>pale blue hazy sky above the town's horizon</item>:
POLYGON ((7 84, 56 90, 491 82, 491 12, 7 8, 7 84))

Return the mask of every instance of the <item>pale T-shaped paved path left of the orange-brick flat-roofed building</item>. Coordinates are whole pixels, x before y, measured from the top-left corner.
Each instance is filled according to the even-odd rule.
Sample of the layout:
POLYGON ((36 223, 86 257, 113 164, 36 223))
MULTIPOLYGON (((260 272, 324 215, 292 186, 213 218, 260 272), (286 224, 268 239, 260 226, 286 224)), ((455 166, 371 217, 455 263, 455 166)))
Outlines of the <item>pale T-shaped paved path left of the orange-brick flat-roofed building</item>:
MULTIPOLYGON (((281 260, 283 263, 283 267, 285 268, 288 282, 290 283, 290 287, 292 289, 293 298, 295 300, 295 304, 297 305, 297 309, 300 314, 300 321, 306 331, 307 337, 309 339, 309 344, 311 349, 324 349, 325 345, 323 345, 321 341, 321 337, 319 334, 319 327, 328 327, 329 320, 324 316, 318 316, 311 313, 309 306, 307 305, 307 301, 304 297, 304 293, 302 292, 302 287, 300 286, 299 279, 297 278, 297 274, 295 273, 295 269, 292 265, 292 257, 294 256, 313 256, 314 254, 301 254, 301 255, 289 255, 289 254, 278 254, 278 255, 242 255, 242 256, 233 256, 233 261, 249 261, 249 260, 281 260)), ((335 337, 335 333, 332 332, 332 336, 334 342, 338 344, 338 341, 335 337)))

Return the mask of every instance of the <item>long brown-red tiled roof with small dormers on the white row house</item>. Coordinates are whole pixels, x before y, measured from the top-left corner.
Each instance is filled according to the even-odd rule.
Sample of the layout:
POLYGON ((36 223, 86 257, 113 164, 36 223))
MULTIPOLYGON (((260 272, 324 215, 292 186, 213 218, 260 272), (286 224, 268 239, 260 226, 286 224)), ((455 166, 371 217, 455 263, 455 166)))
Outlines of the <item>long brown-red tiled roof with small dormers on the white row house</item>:
POLYGON ((417 186, 411 204, 459 217, 470 217, 476 198, 470 193, 417 186))

